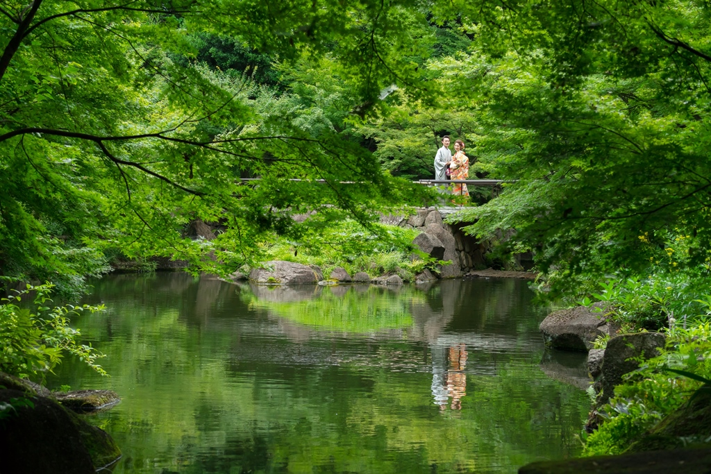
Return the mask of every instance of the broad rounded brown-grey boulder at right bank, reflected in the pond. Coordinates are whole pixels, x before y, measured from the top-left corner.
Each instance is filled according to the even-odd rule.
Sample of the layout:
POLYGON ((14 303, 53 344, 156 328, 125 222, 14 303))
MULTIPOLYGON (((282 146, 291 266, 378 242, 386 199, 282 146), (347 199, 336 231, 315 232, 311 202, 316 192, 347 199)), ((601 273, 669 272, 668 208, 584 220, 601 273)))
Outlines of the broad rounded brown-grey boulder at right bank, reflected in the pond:
MULTIPOLYGON (((596 303, 597 305, 597 303, 596 303)), ((563 350, 590 350, 601 335, 614 335, 619 327, 608 321, 599 306, 577 306, 550 313, 542 323, 546 345, 563 350)))

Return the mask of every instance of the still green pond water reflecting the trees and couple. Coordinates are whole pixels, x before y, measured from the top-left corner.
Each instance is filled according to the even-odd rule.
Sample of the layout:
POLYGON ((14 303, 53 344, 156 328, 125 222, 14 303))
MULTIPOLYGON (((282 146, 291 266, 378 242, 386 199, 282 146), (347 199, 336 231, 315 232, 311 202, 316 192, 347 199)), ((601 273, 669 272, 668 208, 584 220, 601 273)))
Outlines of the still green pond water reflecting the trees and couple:
POLYGON ((256 287, 107 276, 73 321, 107 354, 53 387, 112 389, 87 416, 114 473, 515 473, 580 451, 584 356, 547 353, 525 282, 256 287))

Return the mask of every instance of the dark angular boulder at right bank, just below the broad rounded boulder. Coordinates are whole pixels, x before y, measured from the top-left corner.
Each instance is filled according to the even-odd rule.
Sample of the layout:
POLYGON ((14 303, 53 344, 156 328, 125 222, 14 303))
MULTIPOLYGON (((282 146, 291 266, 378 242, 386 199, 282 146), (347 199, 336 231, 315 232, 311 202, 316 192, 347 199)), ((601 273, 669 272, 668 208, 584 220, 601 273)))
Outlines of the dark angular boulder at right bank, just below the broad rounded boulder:
POLYGON ((616 385, 622 383, 622 376, 636 370, 639 362, 659 355, 664 347, 665 337, 661 333, 622 334, 607 343, 602 356, 602 377, 597 388, 602 390, 598 404, 605 404, 614 395, 616 385))

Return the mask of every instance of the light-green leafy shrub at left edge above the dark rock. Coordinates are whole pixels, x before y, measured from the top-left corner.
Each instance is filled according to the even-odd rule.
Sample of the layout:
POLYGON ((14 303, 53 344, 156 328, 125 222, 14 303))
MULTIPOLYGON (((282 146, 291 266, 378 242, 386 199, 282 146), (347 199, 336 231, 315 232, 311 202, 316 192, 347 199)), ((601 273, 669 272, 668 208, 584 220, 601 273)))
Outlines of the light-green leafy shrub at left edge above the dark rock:
POLYGON ((104 306, 48 305, 52 285, 27 285, 15 296, 2 298, 0 304, 0 372, 18 377, 45 377, 65 354, 74 355, 96 372, 107 375, 97 364, 103 357, 91 345, 78 342, 79 330, 70 328, 69 317, 89 311, 103 311, 104 306), (19 306, 25 295, 35 293, 34 308, 19 306))

